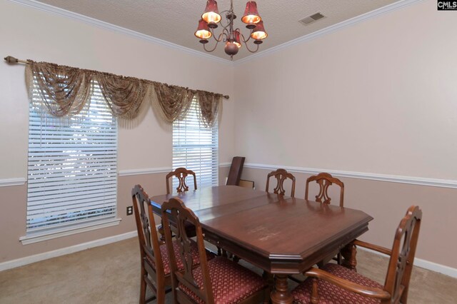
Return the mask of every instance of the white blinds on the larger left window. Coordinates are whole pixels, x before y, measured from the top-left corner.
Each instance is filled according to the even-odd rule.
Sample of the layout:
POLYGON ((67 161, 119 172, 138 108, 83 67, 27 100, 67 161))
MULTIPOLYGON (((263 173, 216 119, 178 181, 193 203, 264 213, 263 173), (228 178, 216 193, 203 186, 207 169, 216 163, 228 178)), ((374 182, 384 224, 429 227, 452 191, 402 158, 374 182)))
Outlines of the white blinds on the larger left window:
POLYGON ((30 108, 27 234, 115 218, 117 123, 99 86, 86 116, 47 115, 30 108))

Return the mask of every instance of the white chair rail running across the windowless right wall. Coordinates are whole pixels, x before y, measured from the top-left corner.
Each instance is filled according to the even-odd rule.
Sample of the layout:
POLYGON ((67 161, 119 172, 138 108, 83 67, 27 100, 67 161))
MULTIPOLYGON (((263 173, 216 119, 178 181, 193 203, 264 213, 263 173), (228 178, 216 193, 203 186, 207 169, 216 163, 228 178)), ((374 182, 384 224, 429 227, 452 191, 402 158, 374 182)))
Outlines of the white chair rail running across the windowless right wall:
POLYGON ((364 173, 354 171, 338 171, 331 169, 319 169, 319 168, 303 168, 303 167, 288 167, 288 166, 273 166, 265 165, 261 163, 245 163, 245 168, 263 169, 263 170, 276 170, 277 168, 284 168, 287 171, 294 173, 305 173, 305 174, 318 174, 321 172, 330 173, 333 176, 346 177, 346 178, 360 178, 371 181, 387 181, 391 183, 408 183, 410 185, 418 186, 432 186, 441 188, 457 188, 457 181, 438 179, 438 178, 422 178, 415 176, 396 176, 388 174, 378 173, 364 173))

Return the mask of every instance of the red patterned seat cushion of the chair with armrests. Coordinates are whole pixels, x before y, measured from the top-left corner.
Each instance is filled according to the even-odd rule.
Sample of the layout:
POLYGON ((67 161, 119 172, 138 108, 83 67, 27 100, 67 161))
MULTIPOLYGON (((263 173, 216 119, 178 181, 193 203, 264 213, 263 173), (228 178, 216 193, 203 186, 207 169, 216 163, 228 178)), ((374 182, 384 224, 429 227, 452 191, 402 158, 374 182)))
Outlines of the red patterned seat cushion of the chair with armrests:
MULTIPOLYGON (((364 286, 383 288, 383 285, 365 278, 363 275, 356 273, 341 265, 328 263, 323 266, 322 270, 332 273, 339 278, 350 280, 353 283, 357 283, 364 286)), ((311 288, 313 281, 311 278, 307 278, 303 283, 298 285, 293 291, 293 300, 296 303, 308 304, 311 303, 311 288)), ((381 303, 380 300, 364 297, 357 293, 352 293, 348 290, 340 288, 332 283, 328 283, 326 280, 318 280, 318 294, 319 303, 322 304, 354 304, 354 303, 381 303)))

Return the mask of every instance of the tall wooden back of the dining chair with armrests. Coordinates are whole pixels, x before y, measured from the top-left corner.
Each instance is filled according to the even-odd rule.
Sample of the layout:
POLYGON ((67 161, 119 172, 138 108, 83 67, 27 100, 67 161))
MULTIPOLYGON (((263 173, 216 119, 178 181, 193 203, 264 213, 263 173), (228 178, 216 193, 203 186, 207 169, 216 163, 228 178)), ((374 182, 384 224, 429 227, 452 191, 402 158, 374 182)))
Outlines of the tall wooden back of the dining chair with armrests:
POLYGON ((422 211, 411 206, 401 220, 393 239, 384 290, 391 294, 388 303, 407 303, 409 280, 421 228, 422 211))

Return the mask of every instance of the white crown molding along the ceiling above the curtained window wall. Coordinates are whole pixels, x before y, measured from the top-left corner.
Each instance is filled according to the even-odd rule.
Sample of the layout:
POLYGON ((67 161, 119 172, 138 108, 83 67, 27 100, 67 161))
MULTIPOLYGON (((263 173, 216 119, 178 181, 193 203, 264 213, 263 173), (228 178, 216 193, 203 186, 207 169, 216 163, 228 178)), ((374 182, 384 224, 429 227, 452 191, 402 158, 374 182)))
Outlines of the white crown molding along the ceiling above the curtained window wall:
POLYGON ((179 50, 179 51, 183 51, 184 53, 191 54, 191 55, 194 55, 194 56, 199 56, 199 57, 204 58, 204 59, 209 59, 209 60, 212 60, 212 61, 216 61, 216 62, 219 62, 219 63, 222 63, 222 64, 226 64, 228 66, 233 66, 233 62, 229 61, 229 59, 222 59, 222 58, 216 57, 216 56, 211 55, 211 54, 207 54, 207 53, 203 53, 201 51, 196 51, 194 49, 186 48, 185 46, 179 46, 178 44, 173 44, 173 43, 171 43, 169 41, 158 39, 158 38, 155 38, 153 36, 146 35, 146 34, 141 34, 138 31, 133 31, 131 29, 126 29, 126 28, 121 27, 121 26, 116 26, 114 24, 110 24, 110 23, 105 22, 105 21, 101 21, 101 20, 98 20, 98 19, 91 18, 89 16, 84 16, 84 15, 75 13, 73 11, 67 11, 66 9, 60 9, 59 7, 56 7, 56 6, 51 6, 49 4, 44 4, 44 3, 41 3, 41 2, 38 2, 38 1, 34 1, 34 0, 9 0, 9 1, 14 2, 16 4, 29 6, 31 8, 38 9, 40 11, 46 11, 47 13, 51 13, 51 14, 54 14, 54 15, 57 15, 57 16, 63 16, 63 17, 69 18, 69 19, 82 21, 82 22, 84 22, 86 24, 90 24, 90 25, 93 25, 93 26, 98 26, 98 27, 100 27, 102 29, 108 29, 110 31, 115 31, 115 32, 118 32, 118 33, 121 33, 121 34, 126 34, 128 36, 132 36, 132 37, 135 37, 135 38, 138 38, 138 39, 146 40, 146 41, 152 42, 154 44, 159 44, 161 46, 166 46, 166 47, 171 48, 171 49, 176 49, 176 50, 179 50))

